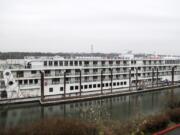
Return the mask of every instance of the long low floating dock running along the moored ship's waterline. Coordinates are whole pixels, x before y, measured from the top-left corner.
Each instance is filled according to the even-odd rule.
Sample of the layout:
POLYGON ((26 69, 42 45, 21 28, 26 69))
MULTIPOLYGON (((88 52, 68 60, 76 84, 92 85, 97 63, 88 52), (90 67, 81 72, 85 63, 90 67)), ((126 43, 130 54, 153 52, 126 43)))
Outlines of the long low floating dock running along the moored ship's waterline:
POLYGON ((53 105, 53 104, 64 104, 64 103, 88 101, 88 100, 95 100, 95 99, 104 99, 104 98, 116 97, 116 96, 132 95, 132 94, 145 93, 145 92, 151 92, 151 91, 160 91, 164 89, 177 88, 177 87, 180 87, 180 84, 161 86, 161 87, 151 87, 151 88, 147 88, 143 90, 135 90, 135 89, 129 90, 127 88, 118 92, 112 92, 112 93, 109 92, 109 93, 94 94, 94 95, 81 95, 81 96, 73 96, 73 97, 47 98, 48 96, 45 96, 43 100, 41 99, 40 96, 29 97, 29 98, 1 99, 0 106, 10 105, 10 104, 25 104, 25 103, 33 103, 33 102, 39 103, 42 106, 53 105))

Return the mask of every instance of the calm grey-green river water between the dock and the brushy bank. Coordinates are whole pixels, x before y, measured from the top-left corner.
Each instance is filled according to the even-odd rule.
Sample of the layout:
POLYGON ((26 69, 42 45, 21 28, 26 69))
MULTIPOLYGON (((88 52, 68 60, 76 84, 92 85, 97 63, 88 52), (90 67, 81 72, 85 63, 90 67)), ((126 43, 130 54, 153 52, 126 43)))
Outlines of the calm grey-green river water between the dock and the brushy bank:
POLYGON ((37 103, 1 106, 0 126, 13 127, 51 117, 127 121, 163 112, 170 102, 179 99, 180 88, 174 88, 44 107, 37 103))

